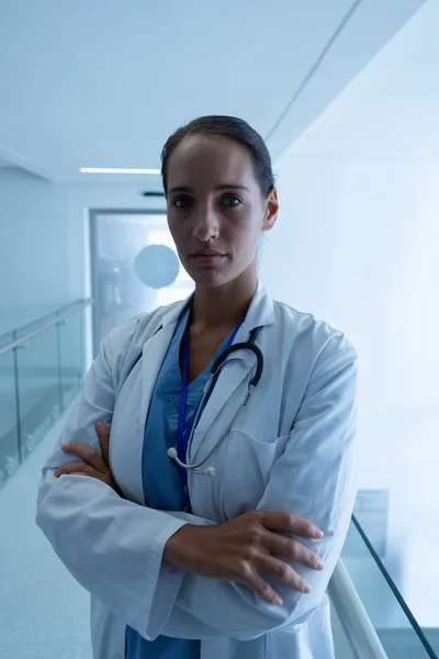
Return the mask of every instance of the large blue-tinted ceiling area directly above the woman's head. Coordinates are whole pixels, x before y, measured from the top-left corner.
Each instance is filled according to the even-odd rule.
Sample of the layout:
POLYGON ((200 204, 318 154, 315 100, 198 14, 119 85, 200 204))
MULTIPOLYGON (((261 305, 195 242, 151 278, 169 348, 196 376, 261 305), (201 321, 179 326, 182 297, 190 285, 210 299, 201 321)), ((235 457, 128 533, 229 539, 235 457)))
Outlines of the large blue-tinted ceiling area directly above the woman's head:
POLYGON ((79 167, 157 168, 176 127, 215 113, 249 121, 277 159, 421 4, 2 0, 0 158, 127 182, 79 167))

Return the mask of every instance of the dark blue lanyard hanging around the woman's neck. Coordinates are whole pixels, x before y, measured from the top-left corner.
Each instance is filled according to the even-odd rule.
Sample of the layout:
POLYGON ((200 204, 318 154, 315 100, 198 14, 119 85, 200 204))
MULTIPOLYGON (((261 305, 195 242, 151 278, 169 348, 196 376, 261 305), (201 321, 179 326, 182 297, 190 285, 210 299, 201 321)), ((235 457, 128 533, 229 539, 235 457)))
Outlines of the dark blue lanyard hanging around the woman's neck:
MULTIPOLYGON (((201 396, 199 402, 196 403, 195 411, 193 412, 192 416, 185 424, 185 410, 187 410, 187 404, 188 404, 188 390, 189 390, 188 377, 189 377, 189 325, 190 325, 190 320, 191 320, 191 316, 189 316, 188 325, 185 327, 184 337, 183 337, 183 355, 182 355, 183 359, 182 359, 182 373, 181 373, 182 389, 181 389, 181 394, 180 394, 179 421, 178 421, 178 429, 177 429, 177 453, 178 453, 179 459, 182 462, 185 462, 185 453, 187 453, 187 448, 188 448, 189 436, 191 434, 191 431, 192 431, 192 427, 193 427, 193 424, 195 421, 195 416, 199 411, 201 399, 202 399, 202 396, 201 396)), ((241 322, 232 332, 232 334, 227 340, 227 345, 226 345, 225 349, 227 349, 232 346, 233 342, 235 340, 235 336, 237 335, 237 333, 239 331, 239 327, 244 323, 244 320, 245 319, 243 319, 241 322)), ((207 400, 213 391, 213 388, 215 387, 216 380, 217 380, 217 376, 213 379, 213 381, 211 383, 209 394, 206 396, 207 400)), ((181 484, 183 488, 183 501, 184 501, 183 511, 190 512, 191 503, 189 500, 189 490, 188 490, 188 470, 183 469, 183 467, 180 467, 180 466, 178 466, 178 469, 179 469, 181 484)))

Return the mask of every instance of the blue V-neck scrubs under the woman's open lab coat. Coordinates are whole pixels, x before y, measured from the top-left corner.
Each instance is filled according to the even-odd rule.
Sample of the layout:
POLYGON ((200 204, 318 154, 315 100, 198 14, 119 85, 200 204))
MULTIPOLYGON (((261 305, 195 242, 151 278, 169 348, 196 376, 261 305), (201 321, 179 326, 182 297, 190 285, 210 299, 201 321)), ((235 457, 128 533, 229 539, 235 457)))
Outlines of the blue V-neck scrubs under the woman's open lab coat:
MULTIPOLYGON (((167 454, 177 446, 177 427, 180 394, 180 345, 188 324, 189 309, 177 324, 176 332, 161 365, 153 393, 142 458, 145 503, 160 511, 181 511, 183 491, 175 460, 167 454)), ((185 421, 188 422, 203 394, 215 357, 228 342, 226 337, 212 361, 189 384, 185 421)), ((201 478, 201 477, 200 477, 201 478)), ((154 641, 145 640, 131 627, 126 627, 126 659, 200 659, 200 640, 159 636, 154 641)))

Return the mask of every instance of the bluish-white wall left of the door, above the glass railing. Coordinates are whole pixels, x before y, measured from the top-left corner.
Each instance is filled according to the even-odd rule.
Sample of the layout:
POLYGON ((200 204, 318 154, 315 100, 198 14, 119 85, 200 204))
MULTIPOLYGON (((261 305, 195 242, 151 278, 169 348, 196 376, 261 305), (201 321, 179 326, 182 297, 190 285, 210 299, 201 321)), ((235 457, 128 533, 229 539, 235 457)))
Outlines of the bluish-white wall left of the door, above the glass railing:
POLYGON ((80 295, 69 261, 68 193, 0 169, 0 304, 52 304, 80 295))

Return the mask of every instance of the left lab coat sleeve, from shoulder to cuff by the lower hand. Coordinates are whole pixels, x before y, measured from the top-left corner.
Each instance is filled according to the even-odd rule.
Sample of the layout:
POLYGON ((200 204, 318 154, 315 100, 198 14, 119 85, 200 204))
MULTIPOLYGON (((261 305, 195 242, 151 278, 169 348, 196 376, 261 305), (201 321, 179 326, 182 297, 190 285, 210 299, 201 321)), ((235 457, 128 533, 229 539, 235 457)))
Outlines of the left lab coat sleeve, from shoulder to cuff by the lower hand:
MULTIPOLYGON (((124 326, 104 339, 43 468, 36 523, 74 578, 126 624, 144 633, 158 576, 165 583, 160 588, 165 606, 184 576, 162 565, 166 543, 188 521, 209 521, 126 501, 105 483, 87 476, 54 476, 57 467, 78 459, 65 454, 61 444, 82 442, 100 451, 95 423, 111 425, 117 372, 130 342, 128 328, 124 326)), ((209 628, 206 634, 211 634, 209 628)))

